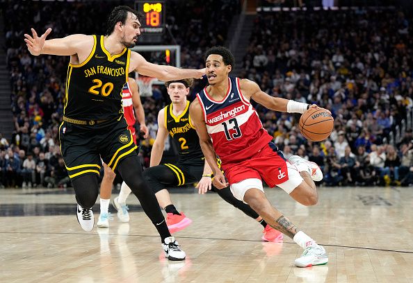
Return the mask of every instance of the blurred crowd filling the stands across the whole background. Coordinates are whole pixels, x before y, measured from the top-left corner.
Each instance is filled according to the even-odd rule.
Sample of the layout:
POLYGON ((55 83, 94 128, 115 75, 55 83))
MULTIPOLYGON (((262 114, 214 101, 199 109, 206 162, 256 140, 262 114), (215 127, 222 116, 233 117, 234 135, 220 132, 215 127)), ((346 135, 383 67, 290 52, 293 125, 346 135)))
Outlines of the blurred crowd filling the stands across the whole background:
MULTIPOLYGON (((133 6, 129 2, 119 1, 133 6)), ((236 0, 198 2, 168 1, 163 44, 181 45, 183 67, 202 67, 204 51, 225 44, 231 19, 240 12, 236 0)), ((30 9, 24 3, 3 9, 15 133, 10 141, 0 137, 1 185, 70 186, 58 141, 69 58, 31 56, 23 34, 32 26, 39 33, 53 28, 50 38, 103 34, 104 22, 95 19, 106 19, 116 4, 32 1, 30 9)), ((332 135, 314 143, 300 135, 298 116, 257 105, 264 128, 284 155, 320 164, 326 185, 413 184, 412 126, 396 128, 413 107, 411 19, 396 10, 257 15, 241 77, 272 96, 331 110, 332 135)), ((160 53, 145 58, 165 64, 160 53)), ((200 87, 197 81, 195 89, 200 87)), ((157 114, 170 103, 164 87, 154 86, 153 94, 142 98, 150 132, 140 146, 144 166, 149 165, 157 114)))

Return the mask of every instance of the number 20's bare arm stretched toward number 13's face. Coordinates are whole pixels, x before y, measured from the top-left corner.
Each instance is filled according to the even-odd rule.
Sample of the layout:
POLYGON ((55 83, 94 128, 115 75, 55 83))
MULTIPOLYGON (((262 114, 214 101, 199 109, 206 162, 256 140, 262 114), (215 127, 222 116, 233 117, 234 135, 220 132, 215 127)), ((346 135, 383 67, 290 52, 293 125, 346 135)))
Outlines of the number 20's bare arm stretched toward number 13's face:
POLYGON ((205 69, 179 69, 172 66, 152 64, 136 52, 131 52, 129 72, 131 71, 137 71, 141 75, 154 77, 165 82, 183 78, 202 78, 205 74, 205 69))

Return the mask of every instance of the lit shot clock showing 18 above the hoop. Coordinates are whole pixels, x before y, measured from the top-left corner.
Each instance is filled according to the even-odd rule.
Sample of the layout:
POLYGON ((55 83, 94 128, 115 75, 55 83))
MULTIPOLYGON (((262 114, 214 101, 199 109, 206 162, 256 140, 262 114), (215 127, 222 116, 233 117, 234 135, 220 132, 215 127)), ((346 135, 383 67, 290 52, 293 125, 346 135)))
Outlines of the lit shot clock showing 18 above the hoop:
POLYGON ((160 34, 165 31, 165 1, 136 1, 136 10, 143 12, 141 31, 146 34, 160 34))

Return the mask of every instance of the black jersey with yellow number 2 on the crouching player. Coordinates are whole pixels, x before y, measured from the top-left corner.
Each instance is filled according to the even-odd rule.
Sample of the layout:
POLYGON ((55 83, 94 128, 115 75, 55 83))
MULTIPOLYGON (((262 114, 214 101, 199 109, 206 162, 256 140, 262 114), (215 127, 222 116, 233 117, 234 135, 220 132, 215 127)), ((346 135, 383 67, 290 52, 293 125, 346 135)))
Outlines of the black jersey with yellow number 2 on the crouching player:
POLYGON ((200 138, 189 117, 189 101, 186 108, 178 117, 172 113, 172 103, 163 108, 165 111, 165 128, 179 148, 179 162, 193 165, 203 164, 204 154, 200 146, 200 138), (195 163, 197 162, 197 163, 195 163), (194 164, 195 163, 195 164, 194 164))

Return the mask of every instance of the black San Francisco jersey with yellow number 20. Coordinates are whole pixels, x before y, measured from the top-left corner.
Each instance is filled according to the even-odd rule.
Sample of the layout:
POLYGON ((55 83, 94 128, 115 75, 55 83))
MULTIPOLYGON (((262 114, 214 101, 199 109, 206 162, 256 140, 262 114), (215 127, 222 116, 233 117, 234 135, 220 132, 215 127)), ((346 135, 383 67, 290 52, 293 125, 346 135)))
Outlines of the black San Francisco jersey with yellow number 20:
POLYGON ((127 82, 131 51, 111 55, 104 36, 93 35, 89 57, 67 68, 65 116, 72 119, 115 119, 122 113, 122 87, 127 82))

